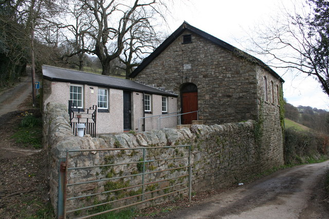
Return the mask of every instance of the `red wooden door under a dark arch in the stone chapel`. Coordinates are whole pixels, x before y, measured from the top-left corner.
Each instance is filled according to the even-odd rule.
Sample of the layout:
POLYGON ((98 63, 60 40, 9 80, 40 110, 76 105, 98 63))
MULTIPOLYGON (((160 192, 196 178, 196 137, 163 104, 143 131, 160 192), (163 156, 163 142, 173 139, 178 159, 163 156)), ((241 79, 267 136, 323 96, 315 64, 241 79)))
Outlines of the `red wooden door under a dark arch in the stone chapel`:
MULTIPOLYGON (((195 84, 185 84, 180 89, 181 96, 181 113, 197 111, 197 87, 195 84)), ((197 120, 197 112, 189 113, 181 116, 183 125, 192 124, 193 120, 197 120)))

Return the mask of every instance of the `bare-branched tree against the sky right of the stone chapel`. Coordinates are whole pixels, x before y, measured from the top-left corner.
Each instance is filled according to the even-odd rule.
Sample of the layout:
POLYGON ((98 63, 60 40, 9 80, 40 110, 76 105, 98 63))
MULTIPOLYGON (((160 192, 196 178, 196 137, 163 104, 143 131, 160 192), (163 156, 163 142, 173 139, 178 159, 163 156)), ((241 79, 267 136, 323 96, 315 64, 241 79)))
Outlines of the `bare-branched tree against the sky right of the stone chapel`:
POLYGON ((265 55, 269 66, 314 76, 329 95, 329 19, 316 19, 328 5, 328 0, 308 0, 302 6, 295 5, 293 11, 284 8, 273 24, 253 31, 256 34, 251 35, 248 50, 265 55))

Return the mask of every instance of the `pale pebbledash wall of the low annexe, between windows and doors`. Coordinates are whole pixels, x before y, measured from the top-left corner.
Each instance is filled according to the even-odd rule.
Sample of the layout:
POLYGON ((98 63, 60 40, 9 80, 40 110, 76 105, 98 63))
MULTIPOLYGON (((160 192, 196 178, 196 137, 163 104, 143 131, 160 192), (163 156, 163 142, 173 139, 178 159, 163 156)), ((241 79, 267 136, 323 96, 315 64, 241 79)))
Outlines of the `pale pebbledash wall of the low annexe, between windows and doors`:
MULTIPOLYGON (((71 83, 49 82, 44 80, 45 95, 43 95, 44 108, 47 103, 61 103, 68 107, 69 90, 71 83)), ((80 85, 83 87, 83 108, 89 108, 97 105, 98 87, 89 85, 80 85)), ((103 88, 103 87, 100 87, 103 88)), ((104 89, 104 88, 103 88, 104 89)), ((105 88, 106 89, 106 88, 105 88)), ((108 90, 108 112, 97 112, 96 133, 114 133, 123 132, 123 91, 118 89, 108 90)), ((162 99, 161 95, 152 94, 152 113, 145 113, 145 116, 161 115, 162 99)), ((132 130, 142 131, 143 120, 140 120, 138 130, 138 120, 143 117, 143 93, 132 92, 132 130)), ((168 112, 177 111, 177 98, 168 97, 168 112)), ((158 116, 145 119, 145 130, 157 129, 158 116)), ((161 120, 161 128, 174 128, 177 125, 177 116, 161 120)))

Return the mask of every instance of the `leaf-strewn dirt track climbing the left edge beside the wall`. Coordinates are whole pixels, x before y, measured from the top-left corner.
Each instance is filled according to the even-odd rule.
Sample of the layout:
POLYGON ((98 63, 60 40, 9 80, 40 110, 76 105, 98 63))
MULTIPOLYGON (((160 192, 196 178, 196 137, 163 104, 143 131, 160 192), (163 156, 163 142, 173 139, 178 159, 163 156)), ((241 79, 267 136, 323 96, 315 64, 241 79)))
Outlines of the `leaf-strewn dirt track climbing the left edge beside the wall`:
MULTIPOLYGON (((17 86, 24 89, 23 84, 21 82, 17 86)), ((20 128, 21 113, 28 111, 37 114, 38 109, 31 107, 31 95, 20 97, 25 101, 21 105, 15 104, 12 109, 2 106, 3 103, 11 102, 10 98, 20 95, 15 92, 21 90, 17 86, 11 93, 4 93, 9 99, 0 94, 0 108, 11 111, 0 115, 0 136, 3 138, 0 141, 0 218, 54 218, 49 202, 45 151, 17 143, 11 137, 20 128)), ((30 87, 28 83, 25 89, 31 90, 30 87)))

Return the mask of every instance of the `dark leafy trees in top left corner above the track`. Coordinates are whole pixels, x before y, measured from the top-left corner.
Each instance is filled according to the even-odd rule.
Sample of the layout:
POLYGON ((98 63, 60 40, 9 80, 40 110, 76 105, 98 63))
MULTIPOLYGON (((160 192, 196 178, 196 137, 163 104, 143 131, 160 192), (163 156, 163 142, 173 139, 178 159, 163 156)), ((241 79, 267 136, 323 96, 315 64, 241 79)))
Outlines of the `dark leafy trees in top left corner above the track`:
POLYGON ((0 2, 0 81, 11 81, 25 71, 31 63, 31 30, 56 7, 49 0, 0 2))

